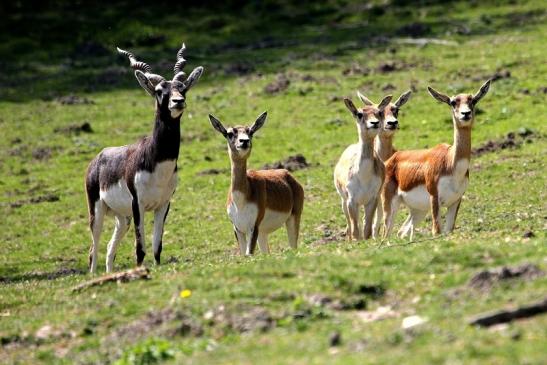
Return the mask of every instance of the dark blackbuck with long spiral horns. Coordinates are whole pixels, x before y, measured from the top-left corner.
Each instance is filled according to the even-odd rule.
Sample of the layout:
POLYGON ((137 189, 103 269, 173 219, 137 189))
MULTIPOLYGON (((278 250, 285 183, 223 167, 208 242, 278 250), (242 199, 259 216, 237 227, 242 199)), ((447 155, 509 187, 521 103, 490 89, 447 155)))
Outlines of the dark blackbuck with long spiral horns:
POLYGON ((154 212, 152 247, 160 263, 163 226, 169 211, 171 196, 177 185, 177 158, 180 147, 180 118, 186 108, 186 93, 196 84, 202 67, 186 77, 182 71, 185 60, 184 44, 177 53, 174 77, 171 81, 151 73, 151 67, 138 61, 130 52, 118 48, 127 56, 135 77, 156 104, 154 130, 134 144, 103 149, 89 164, 85 177, 89 227, 92 244, 89 253, 90 271, 97 270, 99 239, 105 215, 116 219, 114 233, 108 243, 106 271, 113 269, 116 246, 128 231, 131 217, 135 224, 137 265, 145 256, 144 212, 154 212))

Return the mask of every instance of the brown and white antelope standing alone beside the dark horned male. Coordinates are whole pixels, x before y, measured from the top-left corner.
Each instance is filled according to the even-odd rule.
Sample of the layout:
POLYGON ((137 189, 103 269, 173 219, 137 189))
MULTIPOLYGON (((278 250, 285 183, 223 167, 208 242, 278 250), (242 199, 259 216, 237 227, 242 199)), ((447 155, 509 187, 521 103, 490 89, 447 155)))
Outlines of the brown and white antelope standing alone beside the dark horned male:
POLYGON ((211 125, 228 142, 232 182, 228 191, 227 211, 239 243, 240 254, 252 255, 256 243, 263 253, 269 253, 268 234, 287 227, 291 248, 298 246, 300 217, 304 207, 304 189, 285 169, 247 170, 252 139, 266 122, 262 113, 250 127, 225 128, 209 115, 211 125))

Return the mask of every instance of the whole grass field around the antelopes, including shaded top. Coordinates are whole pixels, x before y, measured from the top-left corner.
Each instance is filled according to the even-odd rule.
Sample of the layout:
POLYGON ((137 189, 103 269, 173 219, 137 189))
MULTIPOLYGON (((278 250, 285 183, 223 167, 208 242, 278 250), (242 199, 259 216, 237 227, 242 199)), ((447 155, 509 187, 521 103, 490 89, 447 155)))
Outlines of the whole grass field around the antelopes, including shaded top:
MULTIPOLYGON (((8 9, 13 15, 0 36, 2 362, 547 361, 546 315, 494 329, 468 325, 478 313, 542 300, 547 276, 491 288, 467 284, 478 271, 502 265, 547 271, 543 1, 264 2, 180 14, 164 2, 155 9, 125 12, 127 3, 120 3, 81 13, 60 4, 29 13, 8 9), (36 27, 24 36, 29 23, 36 27), (78 31, 68 34, 71 27, 78 31), (420 39, 429 41, 414 44, 420 39), (115 46, 170 76, 182 40, 187 69, 199 64, 205 73, 183 115, 164 263, 153 265, 147 215, 151 280, 72 293, 90 279, 87 164, 103 147, 132 143, 152 129, 153 101, 115 46), (449 109, 426 86, 474 92, 494 75, 473 130, 473 147, 488 141, 494 147, 472 159, 454 233, 432 238, 428 220, 411 243, 340 238, 345 219, 332 171, 357 140, 342 98, 357 102, 359 89, 379 101, 412 88, 395 144, 431 147, 451 143, 453 132, 449 109), (285 89, 265 91, 283 79, 285 89), (271 255, 240 257, 225 210, 226 145, 207 114, 249 124, 264 110, 269 117, 254 140, 250 167, 297 153, 311 164, 294 172, 306 191, 301 244, 291 251, 283 229, 270 237, 271 255), (511 132, 519 145, 502 149, 498 142, 511 132), (191 295, 182 297, 185 289, 191 295), (369 321, 378 308, 387 318, 369 321), (402 329, 412 315, 427 321, 402 329)), ((108 219, 101 272, 112 229, 108 219)), ((134 266, 133 238, 131 229, 116 269, 134 266)))

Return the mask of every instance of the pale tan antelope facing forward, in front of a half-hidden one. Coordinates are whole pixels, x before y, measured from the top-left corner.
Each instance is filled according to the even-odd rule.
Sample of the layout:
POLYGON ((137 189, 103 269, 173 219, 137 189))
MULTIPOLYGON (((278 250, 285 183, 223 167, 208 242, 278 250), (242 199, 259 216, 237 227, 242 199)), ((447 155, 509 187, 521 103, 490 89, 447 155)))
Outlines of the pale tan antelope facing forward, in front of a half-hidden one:
POLYGON ((344 99, 357 122, 359 135, 359 142, 346 148, 334 168, 334 186, 342 200, 348 240, 367 239, 372 234, 374 213, 384 181, 384 163, 374 152, 374 138, 383 126, 384 111, 390 101, 391 95, 388 95, 380 104, 365 102, 365 107, 358 110, 351 99, 344 99), (362 206, 365 207, 363 231, 359 224, 362 206))

